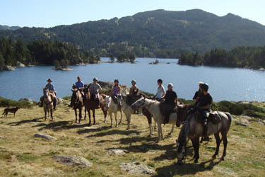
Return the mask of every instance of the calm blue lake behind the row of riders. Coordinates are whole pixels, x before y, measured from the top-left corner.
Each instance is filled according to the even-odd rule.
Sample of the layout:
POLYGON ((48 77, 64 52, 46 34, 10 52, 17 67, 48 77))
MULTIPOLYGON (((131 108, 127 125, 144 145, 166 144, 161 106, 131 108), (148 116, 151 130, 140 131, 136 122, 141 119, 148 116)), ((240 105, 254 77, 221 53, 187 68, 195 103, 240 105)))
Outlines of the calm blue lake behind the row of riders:
MULTIPOLYGON (((109 58, 101 58, 109 61, 109 58)), ((131 86, 131 80, 143 91, 155 93, 156 81, 163 79, 163 85, 174 84, 173 89, 179 98, 192 99, 198 90, 198 82, 209 84, 213 101, 265 101, 265 72, 253 69, 224 67, 190 67, 177 64, 177 59, 137 58, 136 64, 107 63, 71 66, 71 71, 55 71, 52 66, 22 67, 14 71, 0 72, 0 96, 13 100, 31 98, 38 101, 47 79, 53 80, 58 97, 70 96, 71 86, 76 77, 81 76, 84 83, 92 82, 94 77, 100 81, 114 81, 131 86), (170 62, 170 64, 167 64, 170 62)))

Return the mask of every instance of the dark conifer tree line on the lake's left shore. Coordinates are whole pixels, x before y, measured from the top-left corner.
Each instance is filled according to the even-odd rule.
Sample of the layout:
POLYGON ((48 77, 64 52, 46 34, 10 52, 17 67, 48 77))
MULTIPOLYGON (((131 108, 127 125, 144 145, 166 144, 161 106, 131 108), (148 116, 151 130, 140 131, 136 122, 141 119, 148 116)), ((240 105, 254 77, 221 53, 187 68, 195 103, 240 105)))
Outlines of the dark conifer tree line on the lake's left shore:
POLYGON ((35 40, 25 43, 22 39, 0 39, 0 68, 25 65, 48 64, 67 67, 69 64, 95 63, 100 60, 95 52, 80 52, 78 46, 57 40, 35 40))

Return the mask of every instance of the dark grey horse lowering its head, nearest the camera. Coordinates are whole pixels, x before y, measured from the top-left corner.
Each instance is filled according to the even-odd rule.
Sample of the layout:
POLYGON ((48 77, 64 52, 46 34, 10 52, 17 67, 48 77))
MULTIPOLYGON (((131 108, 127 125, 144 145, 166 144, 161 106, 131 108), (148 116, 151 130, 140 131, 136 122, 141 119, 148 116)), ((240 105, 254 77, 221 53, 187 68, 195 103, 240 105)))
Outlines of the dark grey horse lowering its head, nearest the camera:
MULTIPOLYGON (((207 135, 213 135, 216 138, 216 152, 213 154, 213 158, 216 159, 216 156, 219 152, 220 142, 223 140, 223 156, 221 160, 224 160, 226 154, 226 146, 228 144, 227 134, 230 129, 232 122, 232 116, 230 113, 223 113, 215 111, 213 113, 218 114, 219 121, 218 123, 208 122, 207 135), (220 139, 219 134, 222 135, 220 139)), ((182 119, 182 118, 179 118, 182 119)), ((202 125, 201 120, 199 120, 198 115, 195 110, 187 115, 187 119, 182 126, 179 137, 177 139, 177 164, 182 164, 183 159, 186 156, 186 147, 187 139, 192 140, 192 146, 194 147, 194 163, 198 162, 199 159, 199 137, 203 136, 204 126, 202 125)))

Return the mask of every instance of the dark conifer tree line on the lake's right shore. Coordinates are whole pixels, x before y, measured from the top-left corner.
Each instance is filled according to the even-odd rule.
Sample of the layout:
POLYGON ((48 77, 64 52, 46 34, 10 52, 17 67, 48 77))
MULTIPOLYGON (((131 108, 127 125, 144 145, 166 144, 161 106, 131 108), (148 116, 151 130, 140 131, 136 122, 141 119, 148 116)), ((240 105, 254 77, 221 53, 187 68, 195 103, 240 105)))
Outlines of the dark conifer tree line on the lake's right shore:
POLYGON ((238 46, 232 50, 215 49, 202 55, 198 52, 183 52, 179 57, 179 64, 265 68, 265 46, 238 46))

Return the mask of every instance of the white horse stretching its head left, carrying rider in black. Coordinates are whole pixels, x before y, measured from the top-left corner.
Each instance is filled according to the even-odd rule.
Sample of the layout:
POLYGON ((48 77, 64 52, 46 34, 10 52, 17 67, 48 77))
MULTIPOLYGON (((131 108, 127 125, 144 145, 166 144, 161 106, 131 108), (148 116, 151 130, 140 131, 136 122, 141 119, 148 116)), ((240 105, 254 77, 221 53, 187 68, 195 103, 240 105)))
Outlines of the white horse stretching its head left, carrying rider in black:
MULTIPOLYGON (((153 119, 158 124, 158 142, 164 139, 162 126, 161 126, 164 120, 163 118, 164 116, 160 112, 159 105, 160 105, 159 101, 153 101, 148 98, 140 98, 138 101, 134 102, 131 105, 132 108, 141 108, 141 107, 147 108, 147 110, 153 115, 153 119)), ((172 128, 169 135, 173 132, 176 122, 177 122, 177 113, 171 113, 170 120, 168 123, 172 124, 172 128)), ((180 123, 181 122, 177 122, 178 127, 180 126, 180 123)))

